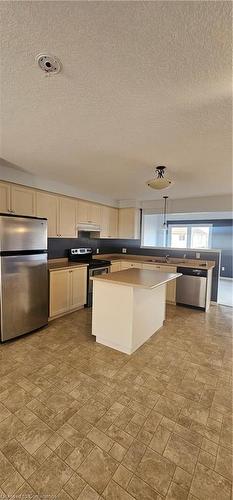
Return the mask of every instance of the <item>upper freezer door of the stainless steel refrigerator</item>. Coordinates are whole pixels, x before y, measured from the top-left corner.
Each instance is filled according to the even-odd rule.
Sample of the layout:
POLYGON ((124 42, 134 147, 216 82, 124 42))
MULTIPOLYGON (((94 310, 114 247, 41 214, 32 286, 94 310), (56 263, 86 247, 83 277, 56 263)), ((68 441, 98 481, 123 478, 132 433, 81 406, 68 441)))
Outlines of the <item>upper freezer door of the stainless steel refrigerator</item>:
POLYGON ((47 250, 47 220, 0 216, 0 252, 47 250))

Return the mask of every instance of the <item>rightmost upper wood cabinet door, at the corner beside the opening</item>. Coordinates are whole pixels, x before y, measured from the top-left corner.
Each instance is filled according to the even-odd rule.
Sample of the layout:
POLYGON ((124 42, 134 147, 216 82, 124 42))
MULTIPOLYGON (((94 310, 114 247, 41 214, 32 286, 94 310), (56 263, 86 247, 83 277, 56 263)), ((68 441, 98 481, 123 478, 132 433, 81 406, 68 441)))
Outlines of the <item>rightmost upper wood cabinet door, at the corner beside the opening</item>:
POLYGON ((138 208, 119 208, 118 237, 122 239, 140 238, 140 210, 138 208))

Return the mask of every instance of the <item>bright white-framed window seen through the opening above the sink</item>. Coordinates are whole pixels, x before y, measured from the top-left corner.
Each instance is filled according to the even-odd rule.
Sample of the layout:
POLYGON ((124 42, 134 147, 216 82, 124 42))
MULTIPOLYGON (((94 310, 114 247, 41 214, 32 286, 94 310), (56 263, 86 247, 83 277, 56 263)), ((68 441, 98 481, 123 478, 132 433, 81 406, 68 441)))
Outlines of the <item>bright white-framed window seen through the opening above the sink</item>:
POLYGON ((210 224, 170 224, 168 228, 168 246, 172 248, 210 248, 210 224))

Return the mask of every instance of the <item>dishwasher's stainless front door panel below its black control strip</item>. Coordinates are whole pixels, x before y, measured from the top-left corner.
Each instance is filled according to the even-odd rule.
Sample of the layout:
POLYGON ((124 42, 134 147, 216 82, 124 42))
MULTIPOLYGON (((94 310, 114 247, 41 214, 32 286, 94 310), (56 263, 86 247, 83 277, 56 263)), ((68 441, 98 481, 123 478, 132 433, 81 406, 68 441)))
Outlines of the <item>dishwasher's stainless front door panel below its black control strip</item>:
POLYGON ((176 283, 177 304, 185 304, 205 308, 206 285, 206 277, 190 275, 180 276, 177 279, 176 283))

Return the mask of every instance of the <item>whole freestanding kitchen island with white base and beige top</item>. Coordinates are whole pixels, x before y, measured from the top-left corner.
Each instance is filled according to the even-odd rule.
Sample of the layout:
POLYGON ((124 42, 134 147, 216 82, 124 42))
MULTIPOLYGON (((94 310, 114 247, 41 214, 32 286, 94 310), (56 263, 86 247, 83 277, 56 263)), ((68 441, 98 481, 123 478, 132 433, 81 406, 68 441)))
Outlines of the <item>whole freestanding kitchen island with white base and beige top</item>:
POLYGON ((179 276, 134 268, 92 278, 96 341, 126 354, 136 351, 163 326, 166 284, 179 276))

